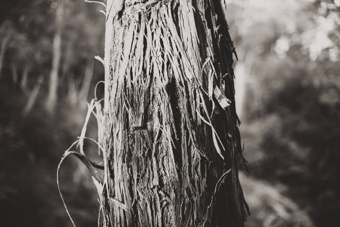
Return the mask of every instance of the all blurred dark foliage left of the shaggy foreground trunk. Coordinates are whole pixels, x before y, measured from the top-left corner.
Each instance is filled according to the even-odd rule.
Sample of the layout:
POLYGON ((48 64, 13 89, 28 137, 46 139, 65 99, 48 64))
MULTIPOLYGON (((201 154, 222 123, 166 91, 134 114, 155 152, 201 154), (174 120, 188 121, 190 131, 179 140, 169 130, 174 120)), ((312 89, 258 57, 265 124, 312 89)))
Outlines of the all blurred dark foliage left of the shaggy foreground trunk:
MULTIPOLYGON (((87 62, 95 61, 94 55, 103 55, 105 18, 96 4, 65 0, 59 103, 54 115, 49 116, 43 103, 51 70, 56 7, 58 0, 0 2, 0 43, 8 39, 0 71, 1 226, 70 224, 59 196, 56 169, 64 151, 79 135, 86 113, 78 103, 69 102, 69 89, 73 86, 72 92, 77 95, 87 62), (21 83, 25 70, 27 84, 21 83), (23 109, 40 75, 45 78, 43 85, 33 109, 24 116, 23 109)), ((103 74, 102 63, 96 61, 88 99, 93 98, 94 86, 103 74)), ((101 92, 99 87, 98 95, 101 92)), ((96 138, 96 122, 90 121, 89 128, 88 136, 96 138)), ((98 158, 98 148, 86 142, 85 148, 94 151, 89 157, 98 158)), ((61 179, 77 226, 96 226, 98 195, 86 169, 69 158, 63 164, 61 179)))

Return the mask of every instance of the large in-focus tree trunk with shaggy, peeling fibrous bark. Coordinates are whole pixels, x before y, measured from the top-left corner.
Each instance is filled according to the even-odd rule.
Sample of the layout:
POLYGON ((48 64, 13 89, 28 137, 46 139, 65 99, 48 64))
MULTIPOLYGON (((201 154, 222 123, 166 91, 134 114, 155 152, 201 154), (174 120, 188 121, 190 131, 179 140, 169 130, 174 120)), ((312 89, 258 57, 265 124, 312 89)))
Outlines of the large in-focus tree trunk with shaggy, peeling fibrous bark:
POLYGON ((106 15, 104 226, 244 226, 221 2, 107 0, 106 15))

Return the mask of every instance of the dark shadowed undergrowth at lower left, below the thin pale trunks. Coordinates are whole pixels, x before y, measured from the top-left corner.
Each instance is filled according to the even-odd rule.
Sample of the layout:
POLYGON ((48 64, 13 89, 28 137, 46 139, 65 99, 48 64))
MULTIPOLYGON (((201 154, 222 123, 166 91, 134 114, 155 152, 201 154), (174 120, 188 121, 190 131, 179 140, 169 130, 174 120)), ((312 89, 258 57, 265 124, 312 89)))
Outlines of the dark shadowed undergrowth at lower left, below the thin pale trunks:
MULTIPOLYGON (((1 226, 68 226, 55 170, 65 147, 80 132, 85 113, 64 105, 54 117, 47 117, 37 103, 23 119, 26 98, 18 88, 9 87, 0 86, 1 226)), ((95 126, 92 121, 89 125, 95 126)), ((87 172, 73 158, 64 165, 62 190, 73 218, 78 227, 96 226, 99 204, 87 172)))

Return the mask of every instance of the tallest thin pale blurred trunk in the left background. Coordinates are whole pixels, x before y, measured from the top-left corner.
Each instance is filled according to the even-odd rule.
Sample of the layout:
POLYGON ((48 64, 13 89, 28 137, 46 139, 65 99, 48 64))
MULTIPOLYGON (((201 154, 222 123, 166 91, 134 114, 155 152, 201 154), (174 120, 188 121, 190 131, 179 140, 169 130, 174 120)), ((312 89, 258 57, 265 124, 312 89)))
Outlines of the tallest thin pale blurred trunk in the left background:
POLYGON ((59 0, 55 11, 55 34, 53 37, 52 69, 50 73, 49 93, 46 99, 46 109, 52 113, 57 102, 58 70, 61 57, 61 35, 63 23, 64 1, 59 0))

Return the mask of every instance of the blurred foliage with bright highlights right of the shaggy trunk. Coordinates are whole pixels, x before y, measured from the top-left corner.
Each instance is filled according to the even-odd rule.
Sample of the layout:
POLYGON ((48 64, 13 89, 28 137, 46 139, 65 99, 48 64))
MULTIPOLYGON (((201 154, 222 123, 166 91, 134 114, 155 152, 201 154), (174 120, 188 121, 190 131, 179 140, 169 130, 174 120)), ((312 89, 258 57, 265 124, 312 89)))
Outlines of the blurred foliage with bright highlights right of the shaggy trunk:
POLYGON ((232 2, 240 62, 254 56, 241 119, 250 174, 276 185, 315 225, 339 226, 340 2, 232 2))

